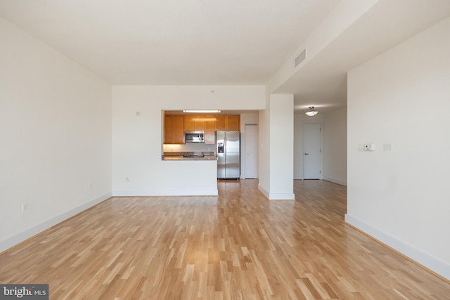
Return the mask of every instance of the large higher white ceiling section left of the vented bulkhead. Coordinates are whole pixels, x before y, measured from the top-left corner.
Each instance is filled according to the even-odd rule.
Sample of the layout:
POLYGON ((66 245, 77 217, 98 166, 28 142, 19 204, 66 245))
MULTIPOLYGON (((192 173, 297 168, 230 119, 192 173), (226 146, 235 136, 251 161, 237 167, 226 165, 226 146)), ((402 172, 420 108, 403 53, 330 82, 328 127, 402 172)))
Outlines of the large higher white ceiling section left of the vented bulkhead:
POLYGON ((338 0, 0 0, 111 84, 266 84, 338 0))

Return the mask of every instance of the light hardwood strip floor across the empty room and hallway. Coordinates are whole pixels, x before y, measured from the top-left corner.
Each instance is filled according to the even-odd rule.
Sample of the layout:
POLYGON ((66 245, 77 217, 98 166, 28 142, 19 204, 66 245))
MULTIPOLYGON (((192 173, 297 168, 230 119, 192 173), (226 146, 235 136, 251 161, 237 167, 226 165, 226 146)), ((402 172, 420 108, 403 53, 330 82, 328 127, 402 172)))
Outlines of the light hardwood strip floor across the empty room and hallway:
POLYGON ((50 299, 450 299, 450 284, 344 222, 346 188, 256 180, 219 197, 114 197, 0 256, 50 299))

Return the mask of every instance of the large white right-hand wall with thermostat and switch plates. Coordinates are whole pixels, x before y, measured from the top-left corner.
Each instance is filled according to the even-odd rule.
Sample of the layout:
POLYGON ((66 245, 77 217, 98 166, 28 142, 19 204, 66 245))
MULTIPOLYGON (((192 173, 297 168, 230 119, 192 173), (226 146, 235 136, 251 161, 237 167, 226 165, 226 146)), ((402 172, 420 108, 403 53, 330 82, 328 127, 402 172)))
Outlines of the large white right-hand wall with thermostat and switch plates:
POLYGON ((346 215, 447 279, 449 32, 447 18, 349 72, 346 215))

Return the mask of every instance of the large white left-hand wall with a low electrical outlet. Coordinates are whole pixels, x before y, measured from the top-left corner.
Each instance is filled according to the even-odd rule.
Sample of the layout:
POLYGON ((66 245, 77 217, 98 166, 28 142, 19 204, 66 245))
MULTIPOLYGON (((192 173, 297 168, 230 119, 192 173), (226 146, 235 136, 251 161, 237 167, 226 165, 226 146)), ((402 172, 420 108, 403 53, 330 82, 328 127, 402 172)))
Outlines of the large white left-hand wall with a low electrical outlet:
POLYGON ((111 90, 1 18, 0 66, 1 252, 110 197, 111 90))

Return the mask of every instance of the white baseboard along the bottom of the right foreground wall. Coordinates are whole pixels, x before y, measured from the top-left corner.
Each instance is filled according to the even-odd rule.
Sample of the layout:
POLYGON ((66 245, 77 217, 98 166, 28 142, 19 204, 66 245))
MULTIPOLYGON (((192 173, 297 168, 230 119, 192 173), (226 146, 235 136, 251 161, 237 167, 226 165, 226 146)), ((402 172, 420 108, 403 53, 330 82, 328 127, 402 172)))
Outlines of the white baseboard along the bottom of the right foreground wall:
POLYGON ((387 244, 387 246, 392 247, 392 249, 397 250, 404 256, 408 256, 413 261, 420 263, 422 266, 429 268, 433 272, 441 275, 443 278, 450 280, 450 265, 448 263, 444 263, 444 261, 440 261, 439 259, 430 256, 430 254, 426 254, 425 252, 416 249, 410 244, 406 244, 401 240, 398 240, 395 237, 379 230, 378 228, 374 228, 363 221, 356 219, 354 216, 349 214, 345 214, 345 221, 350 225, 358 228, 359 230, 371 235, 376 240, 387 244))

